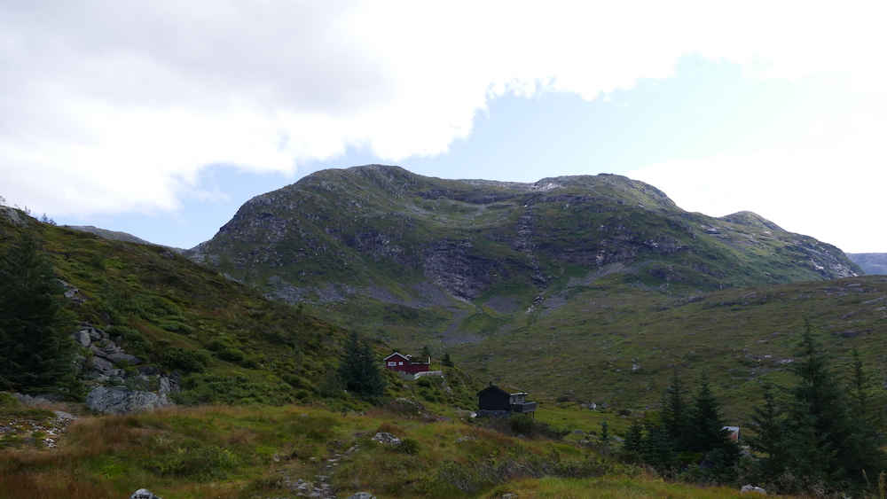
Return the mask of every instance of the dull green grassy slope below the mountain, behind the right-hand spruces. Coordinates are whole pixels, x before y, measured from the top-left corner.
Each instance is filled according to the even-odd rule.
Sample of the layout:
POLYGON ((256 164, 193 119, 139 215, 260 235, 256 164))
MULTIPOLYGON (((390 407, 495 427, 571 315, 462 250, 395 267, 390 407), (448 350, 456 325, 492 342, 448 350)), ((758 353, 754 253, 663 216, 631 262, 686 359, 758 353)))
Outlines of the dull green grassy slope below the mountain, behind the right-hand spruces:
MULTIPOLYGON (((810 320, 836 365, 860 350, 875 378, 887 357, 887 278, 845 277, 689 297, 624 286, 618 277, 575 288, 561 308, 451 346, 481 381, 508 380, 537 396, 655 407, 671 373, 706 374, 733 417, 757 404, 763 378, 780 384, 810 320)), ((747 420, 746 420, 747 421, 747 420)))

